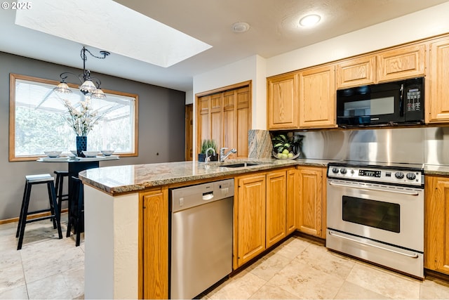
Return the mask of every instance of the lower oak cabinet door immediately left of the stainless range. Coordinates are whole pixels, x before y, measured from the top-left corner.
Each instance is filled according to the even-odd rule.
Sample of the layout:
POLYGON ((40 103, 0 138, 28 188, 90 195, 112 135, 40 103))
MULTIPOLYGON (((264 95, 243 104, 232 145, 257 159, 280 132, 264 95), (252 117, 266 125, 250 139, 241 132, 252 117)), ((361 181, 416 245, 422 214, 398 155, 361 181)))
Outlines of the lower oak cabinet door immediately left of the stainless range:
POLYGON ((323 171, 320 168, 298 169, 300 183, 300 201, 298 207, 297 229, 309 235, 321 237, 323 202, 323 171))

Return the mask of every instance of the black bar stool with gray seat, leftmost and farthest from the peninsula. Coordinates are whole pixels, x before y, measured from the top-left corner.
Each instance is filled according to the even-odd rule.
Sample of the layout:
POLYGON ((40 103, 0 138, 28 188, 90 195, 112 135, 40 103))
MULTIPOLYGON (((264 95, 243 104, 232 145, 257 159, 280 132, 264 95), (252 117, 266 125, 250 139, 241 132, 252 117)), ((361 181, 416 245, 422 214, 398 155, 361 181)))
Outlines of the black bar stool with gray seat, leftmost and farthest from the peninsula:
POLYGON ((22 249, 23 235, 25 234, 25 225, 27 223, 32 223, 36 221, 42 221, 46 219, 52 219, 53 228, 58 228, 59 238, 62 239, 62 231, 59 217, 58 203, 56 202, 55 184, 53 182, 53 177, 50 174, 39 174, 39 175, 27 175, 25 176, 25 190, 23 192, 22 208, 20 209, 19 224, 17 227, 17 232, 15 237, 19 238, 19 243, 17 249, 22 249), (50 202, 49 209, 40 209, 37 211, 28 211, 29 197, 31 195, 31 188, 36 184, 46 184, 48 190, 48 202, 50 202), (42 212, 50 211, 50 216, 41 216, 34 219, 27 220, 27 216, 30 214, 40 214, 42 212))

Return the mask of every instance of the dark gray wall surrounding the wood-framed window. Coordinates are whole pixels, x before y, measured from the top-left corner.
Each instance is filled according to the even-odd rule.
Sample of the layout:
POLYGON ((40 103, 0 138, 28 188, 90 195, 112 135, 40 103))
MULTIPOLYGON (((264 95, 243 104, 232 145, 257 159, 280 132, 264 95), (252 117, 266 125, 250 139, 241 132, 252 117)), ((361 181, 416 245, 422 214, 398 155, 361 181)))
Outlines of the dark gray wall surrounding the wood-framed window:
MULTIPOLYGON (((81 63, 82 60, 80 60, 80 65, 81 63)), ((107 63, 107 59, 104 63, 107 63)), ((53 174, 54 170, 67 170, 65 163, 8 161, 9 74, 29 75, 58 81, 59 74, 62 72, 80 74, 82 70, 0 52, 0 182, 4 187, 0 193, 0 220, 19 215, 25 175, 53 174)), ((185 92, 95 72, 93 72, 93 76, 100 78, 103 89, 139 95, 139 156, 122 157, 115 162, 101 162, 100 167, 184 160, 185 92)), ((76 78, 69 77, 69 82, 78 84, 74 79, 76 78)), ((29 209, 42 209, 48 206, 47 203, 45 187, 33 186, 29 209)))

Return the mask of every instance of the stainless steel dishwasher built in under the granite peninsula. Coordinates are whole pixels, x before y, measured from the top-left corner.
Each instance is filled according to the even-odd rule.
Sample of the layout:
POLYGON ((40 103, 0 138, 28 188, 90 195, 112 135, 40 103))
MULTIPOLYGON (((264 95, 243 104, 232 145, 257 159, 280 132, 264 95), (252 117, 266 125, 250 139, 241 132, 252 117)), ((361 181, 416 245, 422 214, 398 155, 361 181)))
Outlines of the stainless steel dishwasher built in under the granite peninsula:
POLYGON ((170 299, 192 299, 232 271, 234 179, 170 194, 170 299))

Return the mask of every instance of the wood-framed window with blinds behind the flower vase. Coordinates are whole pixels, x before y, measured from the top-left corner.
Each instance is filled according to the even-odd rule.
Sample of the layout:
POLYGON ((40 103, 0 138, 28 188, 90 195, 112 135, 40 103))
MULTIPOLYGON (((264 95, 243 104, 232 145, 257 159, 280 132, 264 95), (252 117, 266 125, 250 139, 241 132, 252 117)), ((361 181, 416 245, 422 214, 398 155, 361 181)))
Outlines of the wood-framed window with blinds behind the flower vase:
MULTIPOLYGON (((70 84, 73 93, 53 91, 58 81, 18 74, 10 75, 9 160, 32 160, 47 150, 69 155, 76 149, 76 134, 67 124, 63 100, 79 107, 84 95, 70 84)), ((138 155, 138 95, 105 91, 106 99, 91 99, 102 117, 88 133, 88 150, 114 150, 121 156, 138 155)))

